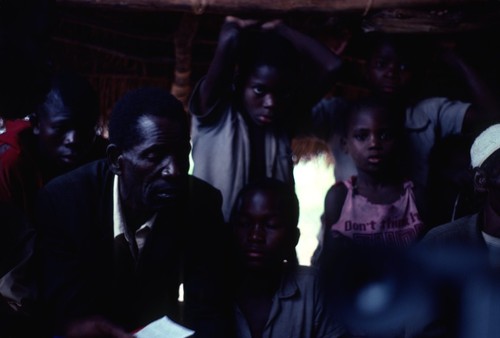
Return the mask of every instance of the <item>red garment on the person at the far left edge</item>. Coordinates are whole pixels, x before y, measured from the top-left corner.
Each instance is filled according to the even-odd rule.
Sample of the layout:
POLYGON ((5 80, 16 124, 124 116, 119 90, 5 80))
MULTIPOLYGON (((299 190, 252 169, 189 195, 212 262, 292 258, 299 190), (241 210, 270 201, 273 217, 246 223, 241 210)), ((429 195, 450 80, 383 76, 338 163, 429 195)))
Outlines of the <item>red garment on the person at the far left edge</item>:
POLYGON ((5 133, 0 135, 0 201, 19 206, 31 217, 35 194, 43 184, 27 144, 29 137, 23 137, 31 134, 31 124, 7 120, 5 127, 5 133))

